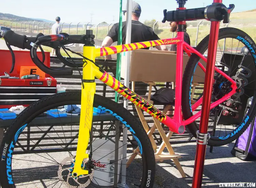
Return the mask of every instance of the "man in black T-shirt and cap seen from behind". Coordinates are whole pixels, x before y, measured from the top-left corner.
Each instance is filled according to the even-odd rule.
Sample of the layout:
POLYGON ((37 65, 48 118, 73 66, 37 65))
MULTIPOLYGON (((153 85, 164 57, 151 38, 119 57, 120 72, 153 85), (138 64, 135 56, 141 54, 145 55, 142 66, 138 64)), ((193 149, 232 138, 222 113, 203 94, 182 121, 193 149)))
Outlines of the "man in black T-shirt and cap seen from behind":
MULTIPOLYGON (((131 15, 131 43, 135 42, 144 42, 144 41, 152 41, 152 40, 159 40, 160 38, 157 34, 153 31, 151 27, 148 27, 142 24, 139 21, 139 17, 141 14, 141 7, 138 3, 132 1, 132 15, 131 15)), ((126 18, 126 10, 123 11, 124 16, 126 18)), ((116 23, 110 29, 108 35, 102 42, 102 47, 111 46, 113 42, 117 41, 118 38, 118 25, 116 23)), ((126 39, 126 21, 123 21, 123 28, 122 28, 122 43, 125 44, 126 39)), ((168 50, 165 45, 156 46, 158 50, 168 50)), ((148 48, 144 48, 148 49, 148 48)), ((111 55, 106 56, 106 59, 111 59, 111 55)))

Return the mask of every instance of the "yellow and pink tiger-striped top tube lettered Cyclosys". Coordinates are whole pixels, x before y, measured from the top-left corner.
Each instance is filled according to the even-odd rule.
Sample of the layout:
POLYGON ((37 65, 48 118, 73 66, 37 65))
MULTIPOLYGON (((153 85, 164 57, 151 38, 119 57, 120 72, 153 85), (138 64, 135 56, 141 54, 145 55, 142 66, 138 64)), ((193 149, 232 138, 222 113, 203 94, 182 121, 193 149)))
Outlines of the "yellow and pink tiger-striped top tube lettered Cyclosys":
POLYGON ((146 47, 153 47, 153 46, 160 46, 160 45, 167 45, 167 44, 177 44, 179 42, 181 42, 179 38, 173 38, 173 39, 137 42, 137 43, 131 43, 131 44, 97 48, 96 57, 118 54, 118 53, 127 52, 131 50, 146 48, 146 47))

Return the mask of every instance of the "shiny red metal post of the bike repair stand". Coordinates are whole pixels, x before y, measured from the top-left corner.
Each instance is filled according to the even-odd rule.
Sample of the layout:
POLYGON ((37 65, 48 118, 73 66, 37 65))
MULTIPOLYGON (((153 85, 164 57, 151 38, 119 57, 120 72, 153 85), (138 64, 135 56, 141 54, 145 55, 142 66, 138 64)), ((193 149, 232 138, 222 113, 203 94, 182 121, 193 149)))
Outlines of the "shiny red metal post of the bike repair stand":
MULTIPOLYGON (((222 3, 222 0, 214 0, 213 2, 222 3)), ((209 38, 207 66, 204 80, 202 115, 199 126, 199 132, 203 134, 207 134, 208 130, 218 35, 219 21, 212 21, 209 38)), ((202 186, 205 150, 206 145, 197 144, 192 188, 201 188, 202 186)))

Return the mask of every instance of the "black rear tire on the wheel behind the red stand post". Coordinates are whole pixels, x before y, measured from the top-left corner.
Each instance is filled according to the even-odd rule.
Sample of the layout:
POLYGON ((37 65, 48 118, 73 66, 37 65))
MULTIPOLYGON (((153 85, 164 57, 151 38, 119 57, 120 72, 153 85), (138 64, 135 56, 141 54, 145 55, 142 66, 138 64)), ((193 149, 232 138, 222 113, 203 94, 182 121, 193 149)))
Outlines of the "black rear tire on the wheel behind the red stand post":
MULTIPOLYGON (((219 30, 219 39, 218 40, 224 40, 224 39, 226 40, 226 38, 231 38, 232 44, 233 44, 233 39, 237 39, 238 37, 247 39, 247 40, 238 40, 239 41, 238 46, 239 46, 239 44, 248 46, 249 43, 247 41, 251 42, 250 43, 251 49, 249 51, 251 51, 250 52, 251 57, 252 57, 251 62, 253 65, 250 65, 250 66, 252 66, 252 69, 253 69, 251 71, 254 72, 256 70, 256 66, 254 63, 254 62, 256 62, 256 53, 255 53, 256 47, 255 47, 255 42, 252 40, 252 38, 250 36, 248 36, 245 32, 243 32, 239 29, 236 29, 236 28, 222 28, 219 30)), ((198 50, 198 52, 203 54, 207 50, 208 44, 209 44, 209 35, 207 37, 205 37, 198 44, 196 49, 198 50)), ((232 47, 231 47, 231 54, 232 54, 232 47)), ((219 48, 221 49, 221 46, 219 46, 219 48)), ((238 47, 237 47, 237 50, 238 50, 238 47)), ((237 52, 236 52, 236 54, 237 54, 237 52)), ((235 58, 235 57, 236 56, 233 56, 233 58, 235 58)), ((222 58, 224 59, 224 56, 222 56, 222 58)), ((182 100, 182 113, 183 113, 184 119, 188 119, 189 117, 191 117, 193 115, 193 113, 191 111, 190 92, 191 92, 192 79, 194 79, 193 75, 195 74, 194 70, 196 70, 196 66, 197 66, 199 59, 200 58, 196 54, 192 54, 188 60, 187 66, 184 71, 183 87, 182 87, 182 99, 183 99, 182 100)), ((221 61, 225 62, 225 59, 224 60, 223 59, 221 61)), ((230 58, 230 63, 231 63, 231 58, 230 58)), ((241 60, 241 63, 242 63, 242 60, 241 60)), ((232 64, 232 66, 233 66, 233 64, 232 64)), ((232 71, 232 66, 231 66, 230 72, 232 71)), ((253 75, 253 76, 255 76, 255 75, 253 75)), ((232 131, 231 133, 226 133, 226 135, 223 135, 223 136, 211 136, 211 138, 208 141, 208 145, 221 146, 221 145, 228 144, 228 143, 234 141, 235 139, 237 139, 246 130, 246 128, 252 122, 254 115, 255 115, 255 110, 256 110, 256 108, 255 108, 256 100, 254 100, 256 97, 255 84, 254 84, 254 86, 252 86, 252 90, 254 90, 254 91, 253 91, 253 95, 251 95, 251 96, 253 96, 253 101, 252 101, 250 110, 247 112, 247 116, 243 116, 243 119, 238 124, 236 124, 237 126, 234 126, 234 127, 236 127, 236 129, 234 129, 233 131, 238 131, 238 132, 234 133, 234 135, 231 134, 231 133, 233 133, 233 131, 232 131), (246 122, 245 125, 241 126, 241 124, 244 124, 244 122, 246 122)), ((243 106, 242 110, 244 113, 246 104, 242 104, 242 106, 243 106)), ((222 113, 220 113, 220 116, 221 115, 222 115, 222 113)), ((232 118, 232 117, 230 116, 230 118, 232 118)), ((194 121, 191 124, 189 124, 187 127, 190 130, 190 132, 196 137, 196 131, 199 130, 199 122, 194 121)), ((209 131, 209 129, 208 129, 208 131, 209 131)))

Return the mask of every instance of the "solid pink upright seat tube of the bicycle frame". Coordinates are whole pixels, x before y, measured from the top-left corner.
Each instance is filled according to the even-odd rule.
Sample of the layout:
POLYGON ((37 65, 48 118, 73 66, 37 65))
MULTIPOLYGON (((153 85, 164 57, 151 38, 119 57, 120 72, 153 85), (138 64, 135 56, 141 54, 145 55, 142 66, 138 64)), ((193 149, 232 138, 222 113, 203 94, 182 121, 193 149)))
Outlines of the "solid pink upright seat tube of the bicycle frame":
POLYGON ((183 70, 183 40, 184 32, 183 25, 179 25, 179 31, 177 32, 177 37, 181 40, 177 44, 177 59, 176 59, 176 80, 175 80, 175 108, 174 108, 174 120, 181 124, 182 113, 181 113, 181 91, 182 91, 182 70, 183 70))

